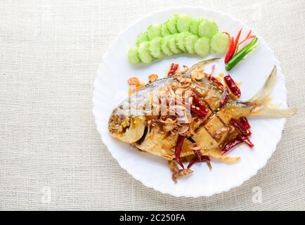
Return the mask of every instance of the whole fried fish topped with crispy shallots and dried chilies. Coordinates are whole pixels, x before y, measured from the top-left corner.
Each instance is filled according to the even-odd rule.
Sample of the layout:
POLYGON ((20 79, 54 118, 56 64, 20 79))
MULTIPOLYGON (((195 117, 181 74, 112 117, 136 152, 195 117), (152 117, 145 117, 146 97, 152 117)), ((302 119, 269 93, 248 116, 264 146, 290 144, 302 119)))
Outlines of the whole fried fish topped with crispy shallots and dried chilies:
MULTIPOLYGON (((242 135, 242 131, 231 124, 232 119, 291 117, 296 113, 296 108, 278 109, 268 105, 276 67, 257 94, 242 102, 204 72, 202 67, 214 60, 218 58, 197 63, 179 75, 146 84, 126 98, 110 115, 110 134, 138 150, 169 160, 171 170, 178 171, 173 162, 183 166, 181 162, 192 160, 198 154, 237 162, 240 158, 230 158, 221 151, 229 141, 242 135), (181 150, 177 155, 179 144, 181 150)), ((179 172, 183 176, 191 171, 179 172)))

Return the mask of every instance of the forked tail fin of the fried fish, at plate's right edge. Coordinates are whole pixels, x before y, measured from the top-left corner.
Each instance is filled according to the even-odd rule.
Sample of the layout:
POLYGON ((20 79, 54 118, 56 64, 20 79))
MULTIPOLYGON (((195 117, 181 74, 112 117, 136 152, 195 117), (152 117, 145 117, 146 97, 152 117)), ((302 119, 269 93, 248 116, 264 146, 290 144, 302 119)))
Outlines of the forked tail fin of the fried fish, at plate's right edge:
POLYGON ((277 68, 274 66, 270 75, 266 79, 265 84, 259 89, 257 94, 255 94, 249 101, 246 101, 248 105, 251 105, 253 110, 250 115, 255 117, 292 117, 297 113, 297 108, 273 108, 268 105, 270 101, 270 93, 275 84, 277 74, 277 68))

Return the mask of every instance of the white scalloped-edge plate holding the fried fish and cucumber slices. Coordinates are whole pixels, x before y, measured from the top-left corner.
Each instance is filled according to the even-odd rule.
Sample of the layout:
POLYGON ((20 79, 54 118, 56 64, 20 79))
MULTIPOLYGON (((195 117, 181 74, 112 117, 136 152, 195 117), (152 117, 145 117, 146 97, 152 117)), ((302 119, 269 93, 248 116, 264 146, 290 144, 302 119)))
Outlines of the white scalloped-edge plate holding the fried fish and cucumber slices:
MULTIPOLYGON (((127 51, 135 44, 137 34, 144 32, 152 23, 164 22, 174 13, 189 13, 198 18, 209 18, 218 23, 219 30, 228 31, 231 34, 236 34, 241 27, 243 27, 243 34, 249 31, 249 27, 229 15, 199 7, 171 8, 141 18, 119 34, 103 57, 93 92, 93 114, 103 143, 108 147, 112 156, 117 159, 119 165, 135 179, 141 181, 145 186, 174 196, 209 196, 240 186, 266 165, 268 158, 271 157, 280 141, 285 119, 249 120, 253 133, 251 140, 255 147, 250 150, 247 146, 240 146, 229 153, 231 156, 240 156, 240 162, 228 165, 212 161, 212 171, 209 171, 205 163, 194 165, 193 174, 179 179, 178 184, 174 184, 171 180, 171 172, 169 172, 166 160, 149 153, 141 153, 128 144, 113 139, 108 133, 108 117, 117 103, 127 96, 127 79, 136 75, 139 79, 146 81, 151 73, 163 77, 170 63, 193 65, 202 60, 200 57, 182 55, 158 60, 141 67, 134 67, 128 62, 127 51)), ((259 49, 249 54, 247 59, 231 72, 235 81, 242 82, 240 87, 242 100, 253 96, 264 84, 273 65, 277 65, 278 77, 271 95, 273 103, 287 106, 285 79, 278 60, 263 38, 259 37, 259 43, 259 49)), ((207 58, 212 57, 213 55, 210 55, 207 58)), ((223 60, 216 64, 216 72, 225 72, 223 60)))

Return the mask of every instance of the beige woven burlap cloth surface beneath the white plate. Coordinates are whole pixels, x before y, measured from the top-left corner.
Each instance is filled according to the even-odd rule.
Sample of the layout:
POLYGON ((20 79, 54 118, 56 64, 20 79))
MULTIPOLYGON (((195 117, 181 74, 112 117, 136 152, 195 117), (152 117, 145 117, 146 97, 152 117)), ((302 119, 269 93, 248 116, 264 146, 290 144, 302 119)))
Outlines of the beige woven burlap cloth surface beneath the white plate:
POLYGON ((305 210, 305 1, 0 1, 1 210, 305 210), (263 36, 298 106, 264 169, 211 198, 174 198, 119 167, 91 113, 103 53, 152 11, 205 6, 263 36), (259 186, 262 203, 252 202, 259 186))

